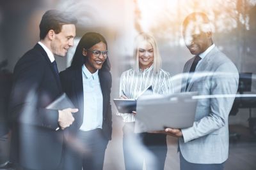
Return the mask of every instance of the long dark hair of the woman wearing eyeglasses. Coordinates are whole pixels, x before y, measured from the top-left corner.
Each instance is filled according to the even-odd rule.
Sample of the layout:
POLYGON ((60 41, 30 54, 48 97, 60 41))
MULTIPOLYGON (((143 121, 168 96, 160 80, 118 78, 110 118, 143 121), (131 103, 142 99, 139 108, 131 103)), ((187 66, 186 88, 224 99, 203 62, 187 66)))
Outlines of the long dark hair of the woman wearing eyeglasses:
MULTIPOLYGON (((74 53, 71 66, 72 68, 80 68, 83 66, 83 64, 86 62, 86 57, 83 55, 83 48, 84 49, 89 49, 93 45, 96 45, 97 43, 103 42, 106 44, 107 50, 108 50, 108 43, 106 39, 99 33, 97 32, 86 32, 86 34, 83 35, 83 37, 80 39, 77 47, 76 47, 76 52, 74 53)), ((102 71, 110 71, 110 62, 107 57, 105 62, 102 65, 101 70, 102 71)))

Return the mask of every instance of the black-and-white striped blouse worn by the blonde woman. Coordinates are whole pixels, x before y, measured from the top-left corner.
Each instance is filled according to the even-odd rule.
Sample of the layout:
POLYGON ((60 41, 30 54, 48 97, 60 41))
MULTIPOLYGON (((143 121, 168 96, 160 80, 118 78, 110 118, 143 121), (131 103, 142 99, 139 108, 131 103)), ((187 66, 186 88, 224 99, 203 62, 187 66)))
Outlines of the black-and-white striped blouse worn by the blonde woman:
MULTIPOLYGON (((153 66, 144 71, 140 69, 139 73, 134 69, 124 71, 120 79, 119 95, 122 96, 122 90, 129 99, 135 99, 147 87, 152 85, 154 94, 171 94, 173 92, 170 74, 163 69, 157 73, 153 72, 153 66)), ((134 122, 135 116, 131 113, 116 113, 124 118, 124 122, 134 122)))

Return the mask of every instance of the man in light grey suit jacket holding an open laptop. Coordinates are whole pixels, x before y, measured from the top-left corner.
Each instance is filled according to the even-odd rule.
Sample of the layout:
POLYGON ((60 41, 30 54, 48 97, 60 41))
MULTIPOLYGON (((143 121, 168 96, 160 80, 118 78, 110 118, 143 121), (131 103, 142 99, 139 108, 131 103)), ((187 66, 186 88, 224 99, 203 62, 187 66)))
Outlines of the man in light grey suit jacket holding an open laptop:
POLYGON ((214 45, 207 15, 191 13, 183 22, 183 36, 191 54, 182 92, 205 96, 196 106, 195 122, 186 129, 166 128, 179 138, 180 169, 223 169, 228 158, 228 114, 237 92, 236 66, 214 45), (202 74, 204 76, 202 76, 202 74))

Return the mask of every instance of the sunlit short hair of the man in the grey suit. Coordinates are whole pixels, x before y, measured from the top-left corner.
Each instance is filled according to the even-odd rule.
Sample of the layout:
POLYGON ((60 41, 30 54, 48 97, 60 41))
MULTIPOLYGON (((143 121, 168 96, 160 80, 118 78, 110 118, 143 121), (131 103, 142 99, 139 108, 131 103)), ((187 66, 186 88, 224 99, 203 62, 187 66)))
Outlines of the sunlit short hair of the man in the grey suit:
POLYGON ((183 26, 183 29, 186 28, 186 26, 189 24, 189 22, 191 21, 196 21, 198 20, 198 18, 202 19, 202 23, 204 24, 209 24, 210 23, 210 20, 209 18, 207 17, 207 15, 205 13, 202 13, 202 12, 193 12, 193 13, 190 13, 185 19, 184 19, 184 22, 182 24, 183 26))

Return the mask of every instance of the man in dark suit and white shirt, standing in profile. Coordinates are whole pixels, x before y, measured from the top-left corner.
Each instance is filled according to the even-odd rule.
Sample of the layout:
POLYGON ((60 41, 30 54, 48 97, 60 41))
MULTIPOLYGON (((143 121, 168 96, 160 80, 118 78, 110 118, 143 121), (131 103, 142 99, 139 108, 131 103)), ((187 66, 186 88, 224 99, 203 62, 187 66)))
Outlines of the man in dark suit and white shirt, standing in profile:
POLYGON ((64 57, 73 46, 77 19, 70 13, 46 11, 40 41, 17 62, 9 115, 12 162, 19 169, 60 169, 63 129, 74 122, 75 108, 47 110, 62 93, 54 55, 64 57))

